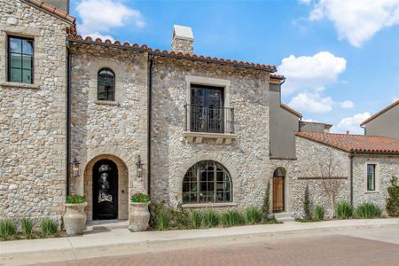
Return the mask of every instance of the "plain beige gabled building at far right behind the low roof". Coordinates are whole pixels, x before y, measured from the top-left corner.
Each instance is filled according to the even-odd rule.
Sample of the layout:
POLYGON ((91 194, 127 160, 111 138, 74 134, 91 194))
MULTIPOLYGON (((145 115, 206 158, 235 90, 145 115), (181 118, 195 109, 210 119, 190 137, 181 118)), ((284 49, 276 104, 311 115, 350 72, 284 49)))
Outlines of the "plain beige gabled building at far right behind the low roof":
POLYGON ((364 134, 399 139, 399 100, 373 114, 360 125, 364 134))

